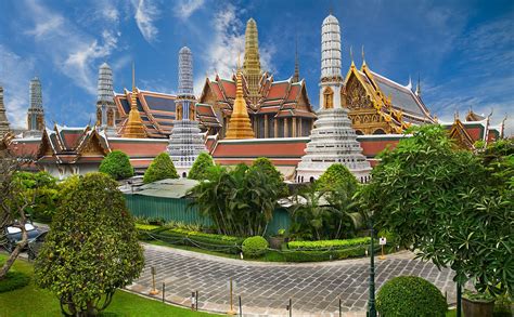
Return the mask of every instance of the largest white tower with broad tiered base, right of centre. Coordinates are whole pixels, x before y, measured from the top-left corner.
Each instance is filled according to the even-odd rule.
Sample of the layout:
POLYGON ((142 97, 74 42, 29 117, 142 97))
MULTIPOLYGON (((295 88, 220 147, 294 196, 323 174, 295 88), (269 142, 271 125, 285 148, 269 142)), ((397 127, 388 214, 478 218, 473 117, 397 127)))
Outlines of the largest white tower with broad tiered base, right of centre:
POLYGON ((296 169, 297 182, 317 180, 334 163, 346 166, 360 182, 367 182, 370 163, 362 155, 348 109, 342 106, 339 22, 330 14, 321 26, 320 110, 306 154, 296 169))

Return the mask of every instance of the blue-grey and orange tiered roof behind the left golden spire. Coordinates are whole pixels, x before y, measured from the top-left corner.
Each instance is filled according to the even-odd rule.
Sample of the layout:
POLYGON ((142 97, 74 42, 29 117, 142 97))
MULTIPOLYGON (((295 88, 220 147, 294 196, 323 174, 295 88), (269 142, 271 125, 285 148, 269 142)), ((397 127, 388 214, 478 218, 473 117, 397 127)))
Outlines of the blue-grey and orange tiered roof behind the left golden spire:
MULTIPOLYGON (((138 110, 146 129, 149 137, 167 138, 174 128, 176 116, 175 101, 177 96, 171 94, 139 90, 137 95, 138 110)), ((117 127, 123 127, 130 111, 130 100, 132 92, 125 90, 123 94, 115 94, 118 114, 117 127)))

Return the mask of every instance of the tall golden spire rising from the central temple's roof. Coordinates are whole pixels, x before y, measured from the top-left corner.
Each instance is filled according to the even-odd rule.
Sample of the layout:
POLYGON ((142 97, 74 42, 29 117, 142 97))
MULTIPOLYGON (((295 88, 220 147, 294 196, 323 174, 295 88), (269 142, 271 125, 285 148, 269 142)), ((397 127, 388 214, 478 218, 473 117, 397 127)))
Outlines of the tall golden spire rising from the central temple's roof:
POLYGON ((255 19, 249 18, 246 23, 245 50, 243 72, 248 83, 249 100, 253 104, 259 101, 260 57, 259 36, 255 19))

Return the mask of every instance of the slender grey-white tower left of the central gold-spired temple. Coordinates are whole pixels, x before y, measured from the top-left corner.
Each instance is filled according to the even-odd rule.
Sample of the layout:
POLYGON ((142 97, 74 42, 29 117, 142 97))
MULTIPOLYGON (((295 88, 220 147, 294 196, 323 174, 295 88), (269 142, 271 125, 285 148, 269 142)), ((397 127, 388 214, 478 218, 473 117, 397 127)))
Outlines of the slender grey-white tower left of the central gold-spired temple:
POLYGON ((202 151, 206 151, 195 120, 193 92, 193 54, 188 47, 179 51, 179 91, 176 120, 169 136, 168 154, 180 176, 185 176, 202 151))

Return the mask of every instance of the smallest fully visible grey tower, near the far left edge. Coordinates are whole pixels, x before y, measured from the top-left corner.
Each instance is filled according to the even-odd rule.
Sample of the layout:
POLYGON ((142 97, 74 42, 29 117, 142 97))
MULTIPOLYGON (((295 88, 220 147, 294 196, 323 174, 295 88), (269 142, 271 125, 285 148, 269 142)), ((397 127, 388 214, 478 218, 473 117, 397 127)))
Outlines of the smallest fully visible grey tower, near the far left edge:
POLYGON ((26 136, 41 136, 44 129, 44 109, 42 106, 41 81, 35 77, 30 80, 30 106, 27 111, 27 132, 26 136))

